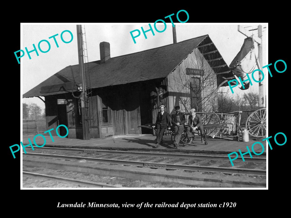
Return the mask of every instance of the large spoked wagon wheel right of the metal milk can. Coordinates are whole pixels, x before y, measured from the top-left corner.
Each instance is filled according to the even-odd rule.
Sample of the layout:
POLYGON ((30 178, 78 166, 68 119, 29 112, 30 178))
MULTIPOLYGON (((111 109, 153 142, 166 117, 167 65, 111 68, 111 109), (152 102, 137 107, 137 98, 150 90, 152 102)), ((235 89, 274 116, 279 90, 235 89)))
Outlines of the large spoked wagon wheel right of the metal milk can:
POLYGON ((246 128, 248 129, 251 136, 256 138, 266 137, 266 117, 266 108, 256 110, 252 112, 251 115, 249 115, 248 119, 246 120, 246 128))

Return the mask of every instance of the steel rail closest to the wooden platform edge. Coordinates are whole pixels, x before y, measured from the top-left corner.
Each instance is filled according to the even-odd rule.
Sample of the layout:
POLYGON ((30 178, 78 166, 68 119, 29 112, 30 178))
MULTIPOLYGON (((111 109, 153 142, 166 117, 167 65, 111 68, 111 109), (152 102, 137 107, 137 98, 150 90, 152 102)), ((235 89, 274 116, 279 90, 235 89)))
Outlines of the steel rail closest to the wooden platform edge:
MULTIPOLYGON (((181 159, 196 159, 196 160, 229 160, 228 156, 214 156, 214 155, 194 155, 194 154, 171 154, 171 153, 152 153, 152 152, 135 152, 135 151, 106 151, 106 150, 88 150, 88 149, 70 149, 70 148, 49 148, 42 147, 42 149, 57 150, 57 151, 82 151, 85 153, 98 154, 117 154, 117 155, 134 155, 134 156, 150 156, 150 157, 167 157, 167 158, 181 158, 181 159)), ((234 156, 231 156, 234 157, 234 156)), ((241 157, 238 157, 241 159, 241 157)), ((250 158, 244 157, 247 162, 251 163, 266 163, 266 158, 250 158)))

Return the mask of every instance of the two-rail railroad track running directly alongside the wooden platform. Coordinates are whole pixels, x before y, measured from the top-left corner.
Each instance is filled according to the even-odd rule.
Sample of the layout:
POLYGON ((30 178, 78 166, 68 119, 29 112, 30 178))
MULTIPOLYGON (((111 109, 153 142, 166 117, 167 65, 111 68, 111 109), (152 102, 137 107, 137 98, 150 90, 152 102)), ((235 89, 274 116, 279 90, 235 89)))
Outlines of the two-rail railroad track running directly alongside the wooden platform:
MULTIPOLYGON (((36 156, 45 158, 56 158, 64 160, 86 160, 89 162, 103 162, 110 164, 119 165, 132 165, 138 167, 150 167, 150 168, 163 168, 163 169, 173 169, 173 170, 184 170, 184 171, 205 171, 205 172, 220 172, 227 174, 249 174, 249 175, 260 175, 266 176, 266 170, 264 169, 246 169, 246 168, 235 168, 235 167, 219 167, 219 166, 200 166, 193 165, 195 161, 193 160, 216 160, 219 162, 218 165, 224 165, 229 163, 228 156, 211 156, 211 155, 186 155, 186 154, 171 154, 171 153, 151 153, 151 152, 129 152, 129 151, 105 151, 105 150, 86 150, 86 149, 65 149, 65 148, 41 148, 42 152, 67 152, 66 155, 62 154, 52 154, 52 153, 36 153, 29 152, 26 156, 36 156), (75 153, 79 153, 78 156, 75 153), (101 157, 86 157, 85 155, 96 155, 101 157), (73 155, 73 156, 72 156, 73 155), (81 156, 80 156, 81 155, 81 156), (108 156, 110 158, 104 158, 108 156), (135 160, 123 160, 123 159, 141 159, 141 161, 135 160), (146 161, 152 157, 167 158, 166 160, 155 160, 155 162, 146 161), (172 159, 172 160, 171 160, 172 159), (186 162, 185 162, 186 161, 186 162), (169 163, 169 162, 180 162, 182 164, 169 163)), ((262 163, 264 166, 265 158, 245 158, 248 162, 256 161, 262 163)), ((245 162, 244 162, 245 163, 245 162)), ((254 162, 251 162, 254 163, 254 162)), ((216 163, 217 164, 217 163, 216 163)), ((254 163, 256 164, 256 163, 254 163)), ((215 165, 215 164, 214 164, 215 165)), ((230 165, 230 164, 229 164, 230 165)), ((260 164, 256 164, 260 165, 260 164)))

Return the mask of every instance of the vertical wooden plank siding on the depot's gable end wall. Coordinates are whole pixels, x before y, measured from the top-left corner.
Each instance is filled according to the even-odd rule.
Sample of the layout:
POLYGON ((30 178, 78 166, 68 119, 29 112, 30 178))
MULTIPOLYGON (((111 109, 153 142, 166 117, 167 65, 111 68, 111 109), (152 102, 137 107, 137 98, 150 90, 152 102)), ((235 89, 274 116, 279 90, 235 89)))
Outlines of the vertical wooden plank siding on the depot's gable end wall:
POLYGON ((198 49, 194 49, 173 72, 167 76, 168 89, 168 111, 174 113, 175 106, 179 105, 182 112, 189 112, 191 109, 191 77, 187 75, 186 68, 204 70, 201 77, 201 98, 202 111, 212 112, 217 110, 217 76, 198 49))

